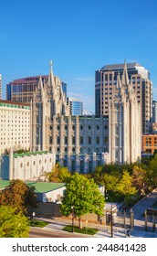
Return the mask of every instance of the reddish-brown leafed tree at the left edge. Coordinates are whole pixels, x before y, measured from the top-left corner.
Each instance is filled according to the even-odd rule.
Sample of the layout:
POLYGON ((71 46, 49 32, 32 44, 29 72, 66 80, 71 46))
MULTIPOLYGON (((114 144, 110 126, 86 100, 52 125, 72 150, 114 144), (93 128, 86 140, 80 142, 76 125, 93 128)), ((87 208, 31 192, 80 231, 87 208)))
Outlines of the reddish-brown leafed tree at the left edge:
POLYGON ((16 213, 26 213, 28 206, 37 206, 35 187, 28 187, 22 180, 12 180, 4 191, 0 192, 0 205, 16 208, 16 213))

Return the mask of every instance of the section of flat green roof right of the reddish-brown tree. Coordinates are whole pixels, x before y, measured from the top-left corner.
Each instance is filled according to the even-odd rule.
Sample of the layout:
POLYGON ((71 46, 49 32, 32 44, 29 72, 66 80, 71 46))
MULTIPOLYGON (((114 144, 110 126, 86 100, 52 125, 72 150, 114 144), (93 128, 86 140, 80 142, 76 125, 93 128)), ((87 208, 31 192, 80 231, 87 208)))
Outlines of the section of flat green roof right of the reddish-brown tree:
POLYGON ((29 182, 27 181, 26 184, 28 186, 36 187, 37 193, 46 193, 52 190, 56 190, 60 187, 66 186, 65 183, 54 183, 54 182, 29 182))

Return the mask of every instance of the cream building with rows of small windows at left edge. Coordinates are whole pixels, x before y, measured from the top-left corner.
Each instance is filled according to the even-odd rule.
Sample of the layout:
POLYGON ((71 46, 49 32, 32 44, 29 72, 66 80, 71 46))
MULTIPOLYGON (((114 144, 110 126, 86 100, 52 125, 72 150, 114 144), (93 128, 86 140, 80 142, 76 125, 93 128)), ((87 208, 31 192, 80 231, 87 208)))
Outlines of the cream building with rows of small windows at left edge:
POLYGON ((30 105, 0 100, 0 155, 30 147, 30 105))

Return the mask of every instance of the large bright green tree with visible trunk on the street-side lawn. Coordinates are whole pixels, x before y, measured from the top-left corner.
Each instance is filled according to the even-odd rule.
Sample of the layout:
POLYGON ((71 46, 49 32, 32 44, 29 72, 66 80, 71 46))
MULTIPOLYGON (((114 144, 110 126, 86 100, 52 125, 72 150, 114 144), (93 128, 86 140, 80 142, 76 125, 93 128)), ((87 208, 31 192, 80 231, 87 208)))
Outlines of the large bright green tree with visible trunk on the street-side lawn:
POLYGON ((93 179, 88 179, 78 173, 74 173, 68 179, 61 212, 63 215, 69 216, 72 208, 74 215, 79 219, 79 228, 81 228, 80 220, 83 215, 87 213, 103 214, 104 197, 93 179))

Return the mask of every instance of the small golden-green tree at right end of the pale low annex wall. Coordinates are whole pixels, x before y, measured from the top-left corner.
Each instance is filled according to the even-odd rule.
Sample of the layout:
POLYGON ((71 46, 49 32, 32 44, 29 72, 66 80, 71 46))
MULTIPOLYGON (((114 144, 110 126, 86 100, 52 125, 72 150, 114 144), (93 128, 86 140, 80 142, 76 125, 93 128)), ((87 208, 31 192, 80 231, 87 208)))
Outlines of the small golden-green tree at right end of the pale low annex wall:
POLYGON ((70 177, 70 173, 68 172, 67 167, 62 167, 59 164, 56 164, 52 171, 46 173, 47 180, 53 182, 66 182, 67 179, 70 177))

